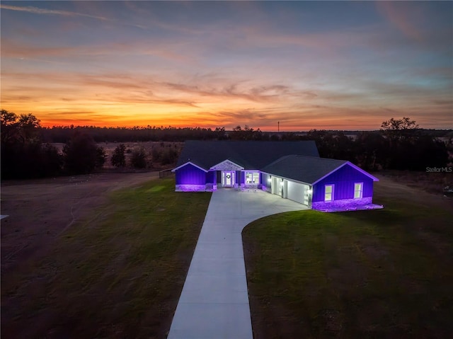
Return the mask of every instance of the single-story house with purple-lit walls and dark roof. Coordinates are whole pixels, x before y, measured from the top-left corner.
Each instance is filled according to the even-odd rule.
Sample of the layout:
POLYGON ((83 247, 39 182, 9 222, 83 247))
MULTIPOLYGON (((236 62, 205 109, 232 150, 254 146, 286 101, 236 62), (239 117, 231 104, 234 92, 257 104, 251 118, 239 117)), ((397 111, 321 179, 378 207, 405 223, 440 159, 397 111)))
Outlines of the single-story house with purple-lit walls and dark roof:
POLYGON ((172 171, 178 192, 264 190, 326 212, 382 208, 372 203, 377 178, 320 158, 314 141, 188 141, 172 171))

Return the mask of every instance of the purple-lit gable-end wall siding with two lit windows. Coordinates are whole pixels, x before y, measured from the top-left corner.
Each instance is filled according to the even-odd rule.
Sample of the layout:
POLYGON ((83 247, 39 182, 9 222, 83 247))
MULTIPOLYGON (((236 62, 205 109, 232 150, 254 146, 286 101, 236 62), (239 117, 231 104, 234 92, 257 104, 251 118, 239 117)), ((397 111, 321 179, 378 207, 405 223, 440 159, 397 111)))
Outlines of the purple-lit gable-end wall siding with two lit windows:
POLYGON ((345 165, 316 183, 313 188, 314 202, 324 201, 324 185, 333 184, 333 200, 352 199, 354 183, 363 183, 362 197, 372 197, 373 180, 349 165, 345 165))

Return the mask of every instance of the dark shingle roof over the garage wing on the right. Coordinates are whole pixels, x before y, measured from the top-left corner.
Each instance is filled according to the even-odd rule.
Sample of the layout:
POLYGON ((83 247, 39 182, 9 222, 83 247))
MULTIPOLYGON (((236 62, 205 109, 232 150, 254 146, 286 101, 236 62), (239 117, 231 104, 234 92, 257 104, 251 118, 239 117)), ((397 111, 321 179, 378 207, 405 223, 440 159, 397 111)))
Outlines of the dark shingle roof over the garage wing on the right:
POLYGON ((277 161, 270 163, 268 166, 261 168, 261 171, 312 184, 345 163, 348 163, 348 161, 290 155, 283 156, 277 161))

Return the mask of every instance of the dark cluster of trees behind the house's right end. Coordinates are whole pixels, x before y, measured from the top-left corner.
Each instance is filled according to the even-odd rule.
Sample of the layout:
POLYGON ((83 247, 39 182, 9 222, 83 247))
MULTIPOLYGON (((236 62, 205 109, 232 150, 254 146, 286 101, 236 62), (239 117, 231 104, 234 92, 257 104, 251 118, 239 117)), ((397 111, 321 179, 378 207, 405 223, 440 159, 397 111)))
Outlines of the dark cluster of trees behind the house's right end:
POLYGON ((314 140, 319 155, 343 159, 367 171, 385 169, 425 171, 452 163, 453 135, 447 142, 425 134, 408 117, 382 122, 376 132, 360 132, 352 139, 343 132, 309 131, 302 139, 314 140))

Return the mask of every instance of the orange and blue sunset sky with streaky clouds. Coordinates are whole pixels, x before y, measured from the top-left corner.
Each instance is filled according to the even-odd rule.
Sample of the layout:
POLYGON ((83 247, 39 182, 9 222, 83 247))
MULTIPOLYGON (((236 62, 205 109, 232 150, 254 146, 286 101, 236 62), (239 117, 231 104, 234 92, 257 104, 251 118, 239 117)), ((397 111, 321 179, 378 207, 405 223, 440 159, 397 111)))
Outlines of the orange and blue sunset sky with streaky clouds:
POLYGON ((453 2, 1 1, 1 108, 44 126, 453 127, 453 2))

